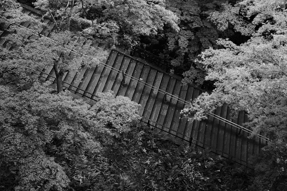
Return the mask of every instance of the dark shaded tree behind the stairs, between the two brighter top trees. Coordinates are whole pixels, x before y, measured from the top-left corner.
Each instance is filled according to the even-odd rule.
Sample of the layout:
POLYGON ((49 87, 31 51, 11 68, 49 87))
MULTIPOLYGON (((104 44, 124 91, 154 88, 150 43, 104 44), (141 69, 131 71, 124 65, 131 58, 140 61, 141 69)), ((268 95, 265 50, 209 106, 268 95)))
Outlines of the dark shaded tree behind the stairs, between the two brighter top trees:
POLYGON ((224 0, 167 0, 166 8, 173 11, 181 19, 180 31, 165 28, 161 36, 143 38, 144 48, 169 60, 172 66, 181 66, 187 71, 183 73, 183 83, 196 82, 202 84, 205 77, 203 66, 194 62, 201 51, 218 48, 216 40, 234 36, 228 29, 219 31, 208 17, 214 10, 221 10, 224 0))

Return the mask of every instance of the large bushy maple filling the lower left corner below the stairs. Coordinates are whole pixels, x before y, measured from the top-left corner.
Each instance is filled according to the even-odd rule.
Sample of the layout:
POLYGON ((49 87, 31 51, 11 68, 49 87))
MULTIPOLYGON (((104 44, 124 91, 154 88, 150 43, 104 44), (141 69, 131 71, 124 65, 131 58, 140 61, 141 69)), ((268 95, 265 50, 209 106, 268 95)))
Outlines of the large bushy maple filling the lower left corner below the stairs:
POLYGON ((112 99, 108 93, 91 106, 67 91, 51 94, 47 85, 34 83, 20 92, 0 86, 1 190, 63 190, 73 178, 96 178, 96 170, 82 174, 74 168, 92 160, 115 135, 131 131, 139 119, 139 105, 127 98, 112 99), (114 111, 110 102, 122 109, 114 111), (121 129, 103 117, 115 112, 122 117, 121 129))

